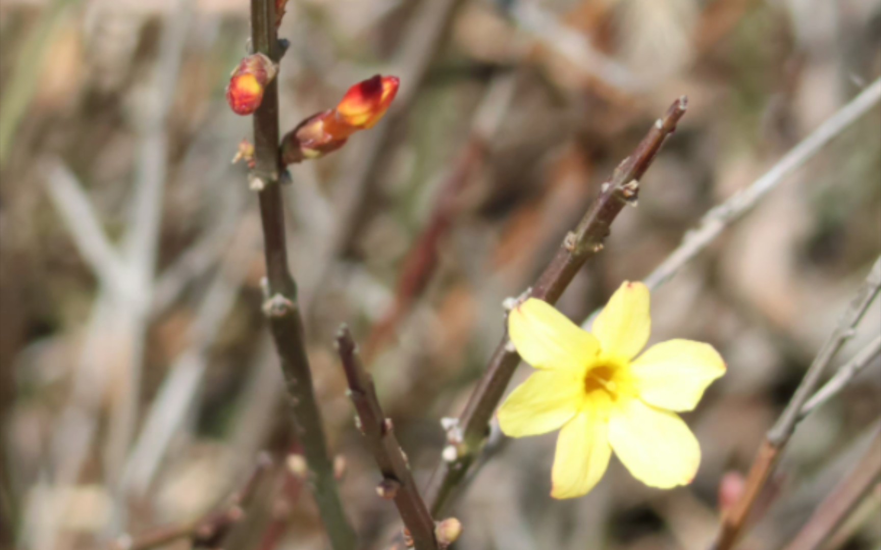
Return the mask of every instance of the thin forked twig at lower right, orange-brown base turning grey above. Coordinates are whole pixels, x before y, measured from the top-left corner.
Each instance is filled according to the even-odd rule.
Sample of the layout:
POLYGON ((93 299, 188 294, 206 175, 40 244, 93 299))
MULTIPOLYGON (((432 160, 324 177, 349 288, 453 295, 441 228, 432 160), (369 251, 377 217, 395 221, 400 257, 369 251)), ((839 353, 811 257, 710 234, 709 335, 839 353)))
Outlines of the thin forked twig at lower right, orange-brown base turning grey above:
POLYGON ((848 339, 853 337, 855 327, 879 290, 881 290, 881 258, 878 258, 872 266, 865 282, 848 305, 848 309, 841 315, 833 334, 829 335, 820 348, 780 418, 768 430, 765 441, 759 447, 759 452, 752 462, 740 500, 722 518, 722 526, 714 543, 715 550, 730 550, 737 544, 746 521, 750 518, 753 505, 781 458, 781 451, 796 429, 802 407, 816 390, 835 354, 848 339))

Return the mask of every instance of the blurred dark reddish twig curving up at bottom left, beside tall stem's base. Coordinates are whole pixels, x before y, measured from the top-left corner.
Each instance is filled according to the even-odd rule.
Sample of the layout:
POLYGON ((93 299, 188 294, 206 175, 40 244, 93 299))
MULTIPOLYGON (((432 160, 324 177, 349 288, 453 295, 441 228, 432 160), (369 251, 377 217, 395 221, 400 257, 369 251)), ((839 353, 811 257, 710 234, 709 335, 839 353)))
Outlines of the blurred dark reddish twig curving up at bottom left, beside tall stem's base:
POLYGON ((193 522, 167 525, 145 532, 134 539, 126 537, 117 540, 110 546, 111 550, 150 550, 185 538, 192 540, 194 548, 218 548, 233 525, 245 516, 245 510, 270 466, 272 466, 270 456, 261 453, 257 457, 254 469, 248 474, 241 487, 226 498, 226 503, 220 509, 213 510, 193 522))

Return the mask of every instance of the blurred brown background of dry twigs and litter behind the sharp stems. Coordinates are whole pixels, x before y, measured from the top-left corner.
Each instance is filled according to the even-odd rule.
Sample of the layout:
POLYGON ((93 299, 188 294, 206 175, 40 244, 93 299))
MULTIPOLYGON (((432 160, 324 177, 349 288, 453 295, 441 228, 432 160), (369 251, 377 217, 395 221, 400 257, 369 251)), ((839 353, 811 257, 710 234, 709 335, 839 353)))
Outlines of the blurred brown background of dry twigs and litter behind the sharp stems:
MULTIPOLYGON (((259 216, 230 162, 252 132, 224 99, 248 2, 0 0, 0 32, 3 547, 102 548, 200 517, 261 450, 278 466, 224 547, 325 547, 285 467, 299 447, 260 312, 259 216)), ((279 33, 283 132, 363 78, 402 82, 386 121, 285 187, 323 422, 376 548, 399 523, 344 395, 340 323, 425 482, 502 300, 674 99, 690 107, 639 207, 559 302, 577 321, 881 73, 877 0, 290 0, 279 33), (414 246, 436 261, 407 260, 414 246)), ((876 106, 653 295, 653 341, 708 341, 729 364, 685 414, 692 486, 646 488, 613 458, 557 502, 554 436, 494 437, 454 507, 456 547, 706 548, 721 481, 748 468, 879 250, 876 106)), ((876 303, 834 364, 879 331, 876 303)), ((855 465, 881 418, 877 363, 803 422, 744 547, 785 544, 855 465)), ((881 544, 876 489, 836 547, 881 544)))

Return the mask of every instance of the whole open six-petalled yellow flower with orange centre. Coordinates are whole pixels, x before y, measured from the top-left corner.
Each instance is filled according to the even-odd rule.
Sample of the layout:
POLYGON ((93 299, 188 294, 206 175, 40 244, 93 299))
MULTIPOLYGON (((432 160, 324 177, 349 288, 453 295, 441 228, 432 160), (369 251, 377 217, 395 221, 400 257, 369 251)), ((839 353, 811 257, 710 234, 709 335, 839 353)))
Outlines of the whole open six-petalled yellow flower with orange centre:
POLYGON ((586 495, 603 477, 611 451, 650 487, 694 479, 700 446, 676 412, 696 407, 725 363, 709 344, 689 340, 665 341, 638 356, 650 326, 641 282, 621 285, 593 334, 535 298, 508 316, 511 341, 537 371, 508 395, 499 424, 511 437, 560 430, 554 498, 586 495))

